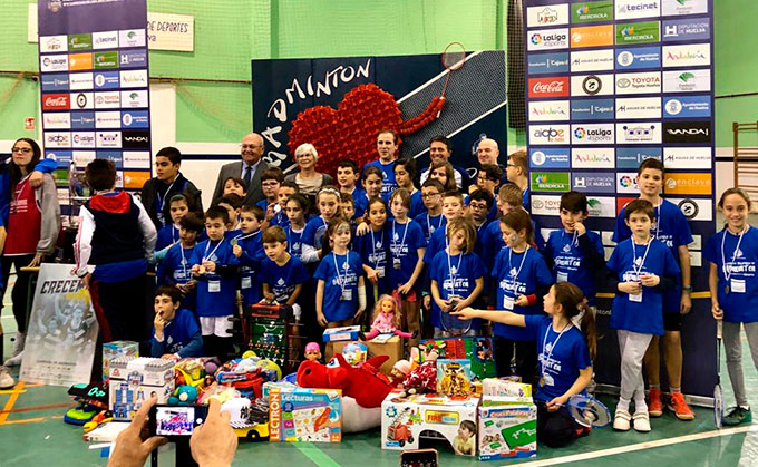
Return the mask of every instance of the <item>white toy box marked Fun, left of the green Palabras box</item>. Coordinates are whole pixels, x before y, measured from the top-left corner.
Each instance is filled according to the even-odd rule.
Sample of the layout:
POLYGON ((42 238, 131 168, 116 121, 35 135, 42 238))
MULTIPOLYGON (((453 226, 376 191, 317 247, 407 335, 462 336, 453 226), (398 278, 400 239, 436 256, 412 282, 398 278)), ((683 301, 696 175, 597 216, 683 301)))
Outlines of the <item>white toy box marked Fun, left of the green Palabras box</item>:
POLYGON ((478 396, 465 400, 438 395, 415 395, 400 398, 390 392, 381 403, 381 448, 418 449, 419 438, 443 438, 455 454, 476 455, 476 410, 478 396), (460 436, 460 428, 470 428, 470 437, 460 436))

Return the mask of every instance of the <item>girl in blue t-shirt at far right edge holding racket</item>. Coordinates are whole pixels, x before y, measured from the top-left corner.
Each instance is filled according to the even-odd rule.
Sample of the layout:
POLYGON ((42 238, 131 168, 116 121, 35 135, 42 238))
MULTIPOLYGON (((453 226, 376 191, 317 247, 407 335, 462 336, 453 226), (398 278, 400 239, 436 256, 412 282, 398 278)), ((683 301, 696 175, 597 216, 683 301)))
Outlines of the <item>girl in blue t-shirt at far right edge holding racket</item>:
POLYGON ((747 222, 751 204, 741 188, 723 192, 719 208, 727 225, 710 237, 703 252, 711 263, 711 313, 722 321, 727 368, 737 401, 723 417, 723 425, 729 426, 752 420, 742 377, 740 327, 745 327, 752 363, 758 368, 758 230, 747 222))

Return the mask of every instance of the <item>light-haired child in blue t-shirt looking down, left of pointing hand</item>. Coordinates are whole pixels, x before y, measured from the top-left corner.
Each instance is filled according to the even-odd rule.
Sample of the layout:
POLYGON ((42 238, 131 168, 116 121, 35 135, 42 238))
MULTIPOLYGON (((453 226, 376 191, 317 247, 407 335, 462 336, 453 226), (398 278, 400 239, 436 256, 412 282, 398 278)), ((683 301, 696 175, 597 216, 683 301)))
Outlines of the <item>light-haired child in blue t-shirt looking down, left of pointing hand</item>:
MULTIPOLYGON (((484 291, 484 263, 473 253, 476 242, 474 223, 464 217, 450 221, 447 234, 447 249, 435 255, 429 267, 435 339, 449 337, 443 327, 443 313, 472 307, 484 291), (454 301, 457 302, 455 305, 454 301)), ((480 321, 475 320, 466 335, 476 335, 479 328, 480 321)))

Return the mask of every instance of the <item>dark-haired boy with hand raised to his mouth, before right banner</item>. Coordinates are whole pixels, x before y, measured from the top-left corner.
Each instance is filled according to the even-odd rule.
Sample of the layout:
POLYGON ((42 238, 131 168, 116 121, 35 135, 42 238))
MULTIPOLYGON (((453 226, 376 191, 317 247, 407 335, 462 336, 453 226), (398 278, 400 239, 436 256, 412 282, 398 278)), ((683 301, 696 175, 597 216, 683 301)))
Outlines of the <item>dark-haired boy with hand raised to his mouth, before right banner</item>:
POLYGON ((555 282, 571 282, 579 286, 587 302, 595 303, 596 271, 605 265, 603 242, 595 232, 587 231, 587 198, 583 193, 568 192, 561 196, 562 230, 547 237, 543 252, 555 282))

